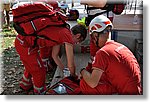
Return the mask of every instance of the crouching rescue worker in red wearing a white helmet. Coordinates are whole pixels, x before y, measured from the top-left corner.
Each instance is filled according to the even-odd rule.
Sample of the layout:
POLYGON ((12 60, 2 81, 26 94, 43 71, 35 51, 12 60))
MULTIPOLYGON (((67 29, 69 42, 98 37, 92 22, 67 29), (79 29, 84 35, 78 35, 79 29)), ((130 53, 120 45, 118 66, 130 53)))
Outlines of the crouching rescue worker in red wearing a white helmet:
POLYGON ((92 62, 92 72, 81 69, 80 88, 83 94, 142 94, 141 72, 132 52, 110 40, 113 25, 105 16, 95 17, 89 33, 99 47, 92 62))

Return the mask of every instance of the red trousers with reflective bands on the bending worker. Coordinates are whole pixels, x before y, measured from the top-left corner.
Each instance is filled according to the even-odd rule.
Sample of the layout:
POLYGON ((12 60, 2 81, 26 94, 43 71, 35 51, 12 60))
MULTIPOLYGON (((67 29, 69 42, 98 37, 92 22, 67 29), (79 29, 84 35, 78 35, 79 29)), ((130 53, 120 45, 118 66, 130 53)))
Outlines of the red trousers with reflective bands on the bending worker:
POLYGON ((25 90, 28 90, 33 86, 36 94, 44 93, 46 90, 46 68, 43 66, 38 53, 38 48, 31 50, 28 47, 24 47, 21 44, 20 39, 18 40, 17 38, 15 40, 15 48, 25 67, 20 86, 25 90))

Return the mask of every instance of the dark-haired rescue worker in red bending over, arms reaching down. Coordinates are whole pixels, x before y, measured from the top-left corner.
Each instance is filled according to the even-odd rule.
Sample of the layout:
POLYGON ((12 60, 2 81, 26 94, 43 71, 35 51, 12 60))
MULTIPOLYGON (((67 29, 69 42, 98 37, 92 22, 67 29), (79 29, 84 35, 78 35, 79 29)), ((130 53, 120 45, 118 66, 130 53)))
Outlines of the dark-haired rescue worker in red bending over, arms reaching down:
POLYGON ((67 27, 48 27, 41 32, 39 35, 47 35, 50 39, 38 39, 36 47, 27 47, 28 42, 34 42, 32 36, 17 35, 15 40, 15 47, 20 55, 25 70, 20 83, 21 88, 29 90, 31 87, 34 88, 35 94, 44 94, 46 91, 45 77, 46 68, 41 60, 39 49, 43 47, 52 48, 52 58, 58 66, 63 66, 58 52, 62 44, 65 45, 66 56, 67 56, 67 67, 70 70, 72 76, 76 77, 75 64, 73 55, 73 45, 81 42, 86 38, 87 30, 82 25, 76 25, 70 29, 67 27))

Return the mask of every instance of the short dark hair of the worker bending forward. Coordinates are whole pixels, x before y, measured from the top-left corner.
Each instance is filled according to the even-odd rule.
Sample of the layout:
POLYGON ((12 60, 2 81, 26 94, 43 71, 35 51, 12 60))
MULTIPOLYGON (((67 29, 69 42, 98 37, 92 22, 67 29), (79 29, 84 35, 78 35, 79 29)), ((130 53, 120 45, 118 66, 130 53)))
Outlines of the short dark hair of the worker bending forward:
POLYGON ((81 37, 83 37, 83 40, 85 40, 86 36, 87 36, 87 29, 84 25, 78 24, 75 25, 71 28, 71 31, 74 35, 80 33, 81 37))

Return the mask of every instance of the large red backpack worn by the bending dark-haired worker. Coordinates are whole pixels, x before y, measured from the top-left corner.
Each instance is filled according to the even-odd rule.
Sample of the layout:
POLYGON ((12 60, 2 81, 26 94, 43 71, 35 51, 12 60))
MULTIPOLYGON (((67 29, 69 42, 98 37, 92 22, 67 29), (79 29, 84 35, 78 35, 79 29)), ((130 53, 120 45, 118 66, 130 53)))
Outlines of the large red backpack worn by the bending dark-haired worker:
POLYGON ((52 40, 45 35, 38 35, 45 28, 50 26, 68 26, 66 16, 54 11, 50 5, 42 2, 20 3, 19 6, 17 5, 16 8, 12 9, 12 13, 14 29, 22 36, 34 36, 34 45, 36 45, 37 39, 41 37, 52 40))

